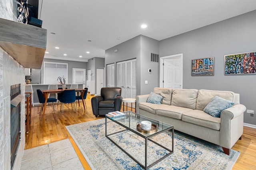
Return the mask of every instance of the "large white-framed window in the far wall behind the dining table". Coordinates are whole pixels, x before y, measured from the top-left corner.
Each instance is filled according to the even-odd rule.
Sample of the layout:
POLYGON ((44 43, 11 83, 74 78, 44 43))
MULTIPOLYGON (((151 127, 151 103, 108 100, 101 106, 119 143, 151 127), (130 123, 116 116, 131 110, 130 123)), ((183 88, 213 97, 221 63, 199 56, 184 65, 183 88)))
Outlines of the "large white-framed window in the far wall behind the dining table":
POLYGON ((44 62, 44 84, 58 84, 58 77, 65 77, 68 83, 68 63, 44 62))

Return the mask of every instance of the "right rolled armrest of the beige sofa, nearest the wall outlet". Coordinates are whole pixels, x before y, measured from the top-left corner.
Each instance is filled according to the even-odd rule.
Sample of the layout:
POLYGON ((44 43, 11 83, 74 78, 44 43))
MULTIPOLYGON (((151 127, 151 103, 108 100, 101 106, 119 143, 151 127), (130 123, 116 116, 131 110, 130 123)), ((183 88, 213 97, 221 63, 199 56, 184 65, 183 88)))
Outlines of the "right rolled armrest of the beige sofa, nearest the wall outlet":
POLYGON ((231 149, 243 134, 244 111, 246 107, 236 104, 221 112, 220 115, 220 146, 231 149))

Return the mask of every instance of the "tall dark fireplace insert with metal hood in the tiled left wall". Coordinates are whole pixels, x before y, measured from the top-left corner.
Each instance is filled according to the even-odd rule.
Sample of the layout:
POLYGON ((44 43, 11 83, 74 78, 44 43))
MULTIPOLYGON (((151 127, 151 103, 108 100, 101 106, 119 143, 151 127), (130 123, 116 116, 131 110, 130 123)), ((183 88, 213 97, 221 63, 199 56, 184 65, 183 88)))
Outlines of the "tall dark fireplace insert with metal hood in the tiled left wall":
POLYGON ((20 102, 24 98, 20 94, 20 84, 11 86, 10 111, 10 141, 11 141, 11 168, 13 167, 18 146, 20 144, 20 102))

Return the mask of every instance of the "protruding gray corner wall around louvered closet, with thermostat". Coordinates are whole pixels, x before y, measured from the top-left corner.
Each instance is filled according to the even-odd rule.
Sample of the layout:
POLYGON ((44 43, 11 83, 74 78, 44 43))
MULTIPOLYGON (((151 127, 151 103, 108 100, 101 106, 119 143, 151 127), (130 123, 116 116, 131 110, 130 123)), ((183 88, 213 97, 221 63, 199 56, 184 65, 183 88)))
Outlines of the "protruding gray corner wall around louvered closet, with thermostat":
POLYGON ((105 64, 115 63, 115 86, 116 86, 116 62, 136 58, 136 86, 137 95, 149 94, 154 87, 158 86, 158 63, 150 62, 150 53, 159 53, 158 40, 138 35, 128 41, 116 45, 105 51, 105 64), (114 50, 118 49, 115 53, 114 50), (152 73, 148 72, 152 69, 152 73), (148 84, 145 84, 148 80, 148 84))

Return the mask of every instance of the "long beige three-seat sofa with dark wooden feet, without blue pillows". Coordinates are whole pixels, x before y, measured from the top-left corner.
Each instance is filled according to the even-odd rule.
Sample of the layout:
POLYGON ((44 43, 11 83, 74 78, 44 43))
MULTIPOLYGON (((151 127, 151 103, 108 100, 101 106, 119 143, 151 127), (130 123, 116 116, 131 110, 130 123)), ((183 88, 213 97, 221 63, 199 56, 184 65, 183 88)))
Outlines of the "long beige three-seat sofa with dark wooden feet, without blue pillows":
POLYGON ((224 153, 243 134, 244 111, 239 94, 229 91, 154 88, 164 98, 161 104, 147 103, 149 94, 136 96, 137 113, 174 126, 174 129, 220 145, 224 153), (221 112, 220 117, 205 113, 204 107, 219 96, 234 102, 234 106, 221 112))

